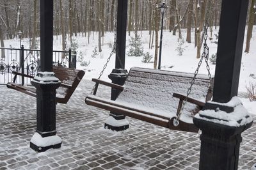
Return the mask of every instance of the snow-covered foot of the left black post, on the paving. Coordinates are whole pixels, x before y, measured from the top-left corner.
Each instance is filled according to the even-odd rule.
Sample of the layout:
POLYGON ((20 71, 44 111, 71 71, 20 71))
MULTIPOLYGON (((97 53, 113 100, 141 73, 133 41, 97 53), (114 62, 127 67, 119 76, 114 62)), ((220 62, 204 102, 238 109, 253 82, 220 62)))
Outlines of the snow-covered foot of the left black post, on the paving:
POLYGON ((44 148, 54 148, 54 146, 61 144, 61 138, 58 135, 51 135, 42 137, 37 132, 33 135, 30 143, 34 144, 38 151, 45 150, 44 148), (51 147, 52 146, 52 147, 51 147))

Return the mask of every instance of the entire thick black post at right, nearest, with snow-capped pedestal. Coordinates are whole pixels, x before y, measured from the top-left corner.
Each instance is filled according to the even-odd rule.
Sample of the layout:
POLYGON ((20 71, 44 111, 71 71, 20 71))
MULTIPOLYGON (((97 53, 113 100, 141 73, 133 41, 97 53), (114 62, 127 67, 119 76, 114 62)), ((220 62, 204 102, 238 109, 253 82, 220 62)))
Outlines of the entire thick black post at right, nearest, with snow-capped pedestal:
POLYGON ((248 0, 222 1, 214 102, 205 104, 204 111, 193 119, 202 130, 199 169, 237 169, 241 133, 252 125, 252 118, 240 102, 225 104, 237 95, 247 10, 248 0), (237 125, 229 124, 231 117, 237 125))

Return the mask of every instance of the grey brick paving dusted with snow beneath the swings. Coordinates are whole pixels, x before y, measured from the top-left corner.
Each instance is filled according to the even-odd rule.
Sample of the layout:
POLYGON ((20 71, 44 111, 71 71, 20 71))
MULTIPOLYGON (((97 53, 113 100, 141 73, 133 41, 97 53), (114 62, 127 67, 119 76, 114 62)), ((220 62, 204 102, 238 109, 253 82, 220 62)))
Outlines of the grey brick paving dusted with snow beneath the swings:
MULTIPOLYGON (((68 104, 56 106, 63 144, 44 153, 29 148, 36 129, 36 99, 0 86, 0 170, 198 169, 200 133, 168 130, 132 118, 125 132, 105 130, 108 112, 84 103, 92 86, 83 80, 68 104)), ((98 95, 109 97, 109 91, 100 87, 98 95)), ((255 123, 242 135, 239 169, 250 169, 256 163, 255 123)))

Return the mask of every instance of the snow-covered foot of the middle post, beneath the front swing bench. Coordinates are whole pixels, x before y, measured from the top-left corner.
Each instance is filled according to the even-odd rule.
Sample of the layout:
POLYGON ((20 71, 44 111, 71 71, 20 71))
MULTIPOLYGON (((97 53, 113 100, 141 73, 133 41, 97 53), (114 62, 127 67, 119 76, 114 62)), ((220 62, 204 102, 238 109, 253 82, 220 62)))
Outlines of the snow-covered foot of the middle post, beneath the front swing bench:
POLYGON ((122 120, 116 120, 113 116, 109 116, 105 121, 104 128, 111 129, 113 131, 122 131, 129 128, 129 121, 125 118, 122 120))

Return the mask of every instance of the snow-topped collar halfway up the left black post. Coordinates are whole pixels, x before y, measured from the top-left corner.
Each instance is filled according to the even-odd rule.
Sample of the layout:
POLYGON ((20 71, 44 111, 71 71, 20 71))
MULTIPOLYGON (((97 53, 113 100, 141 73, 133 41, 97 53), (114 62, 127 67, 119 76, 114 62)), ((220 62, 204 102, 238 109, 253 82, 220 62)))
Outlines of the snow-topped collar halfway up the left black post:
POLYGON ((59 79, 55 77, 54 72, 38 72, 32 82, 39 84, 58 84, 59 79))

